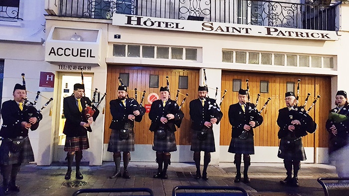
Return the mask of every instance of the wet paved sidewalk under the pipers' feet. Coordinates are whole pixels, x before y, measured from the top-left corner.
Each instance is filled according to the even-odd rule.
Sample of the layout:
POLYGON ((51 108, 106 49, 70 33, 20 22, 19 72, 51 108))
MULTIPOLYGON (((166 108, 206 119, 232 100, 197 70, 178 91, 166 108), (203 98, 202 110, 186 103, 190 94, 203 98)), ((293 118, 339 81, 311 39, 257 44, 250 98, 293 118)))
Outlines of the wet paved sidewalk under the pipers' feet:
MULTIPOLYGON (((122 165, 122 164, 121 164, 122 165)), ((202 167, 201 167, 202 168, 202 167)), ((71 196, 79 189, 103 188, 150 188, 155 196, 171 196, 175 186, 235 186, 245 189, 250 196, 324 196, 317 178, 337 177, 335 167, 325 164, 302 164, 299 172, 300 187, 285 187, 279 184, 286 177, 283 164, 252 163, 249 170, 249 184, 234 183, 235 167, 232 163, 220 163, 209 166, 208 180, 196 180, 193 163, 172 163, 168 170, 169 179, 154 179, 157 164, 131 162, 128 170, 131 179, 109 179, 115 169, 113 162, 104 162, 102 166, 82 166, 83 187, 67 188, 63 183, 76 181, 75 167, 72 179, 64 180, 66 166, 36 166, 29 164, 21 167, 17 177, 20 192, 12 196, 71 196)), ((82 183, 80 183, 82 184, 82 183)), ((109 196, 116 194, 88 194, 89 196, 109 196)))

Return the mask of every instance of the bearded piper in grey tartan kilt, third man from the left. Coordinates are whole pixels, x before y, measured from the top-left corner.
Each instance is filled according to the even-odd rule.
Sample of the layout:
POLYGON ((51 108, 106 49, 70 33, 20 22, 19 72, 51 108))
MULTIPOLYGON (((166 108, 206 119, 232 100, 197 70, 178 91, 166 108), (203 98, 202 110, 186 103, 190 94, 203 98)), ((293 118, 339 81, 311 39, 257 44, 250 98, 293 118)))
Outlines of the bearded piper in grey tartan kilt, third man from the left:
POLYGON ((141 106, 135 99, 126 98, 127 87, 119 86, 118 98, 110 101, 110 113, 113 120, 109 128, 112 129, 112 134, 109 138, 108 152, 113 152, 115 163, 115 172, 109 178, 114 179, 121 177, 120 162, 121 152, 123 152, 124 173, 123 178, 131 178, 127 166, 131 160, 130 151, 135 151, 134 138, 134 121, 140 122, 144 115, 141 106))

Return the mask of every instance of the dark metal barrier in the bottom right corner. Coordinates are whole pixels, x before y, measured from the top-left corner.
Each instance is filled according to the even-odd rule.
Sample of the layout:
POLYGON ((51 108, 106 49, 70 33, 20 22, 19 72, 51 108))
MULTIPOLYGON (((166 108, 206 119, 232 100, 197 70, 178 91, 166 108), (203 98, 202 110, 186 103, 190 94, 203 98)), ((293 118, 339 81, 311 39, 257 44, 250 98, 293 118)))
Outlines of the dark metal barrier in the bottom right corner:
POLYGON ((325 196, 346 196, 349 192, 349 177, 318 178, 324 188, 325 196))

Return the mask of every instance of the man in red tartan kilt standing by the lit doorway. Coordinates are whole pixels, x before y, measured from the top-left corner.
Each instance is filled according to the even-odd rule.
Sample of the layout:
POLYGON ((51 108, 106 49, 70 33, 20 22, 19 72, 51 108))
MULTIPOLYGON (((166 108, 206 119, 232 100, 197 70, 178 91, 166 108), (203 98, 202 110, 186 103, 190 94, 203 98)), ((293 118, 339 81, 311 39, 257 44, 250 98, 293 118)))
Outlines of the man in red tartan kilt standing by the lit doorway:
POLYGON ((83 179, 80 172, 80 162, 82 159, 82 150, 88 149, 89 143, 87 138, 87 131, 92 132, 90 124, 96 120, 99 110, 92 104, 95 110, 94 114, 88 119, 84 114, 86 105, 91 105, 91 100, 83 97, 85 87, 83 84, 74 85, 74 93, 72 96, 63 99, 63 112, 66 118, 63 133, 66 135, 64 151, 67 152, 66 160, 68 161, 68 170, 64 176, 65 180, 71 177, 71 167, 73 164, 75 154, 77 179, 83 179))

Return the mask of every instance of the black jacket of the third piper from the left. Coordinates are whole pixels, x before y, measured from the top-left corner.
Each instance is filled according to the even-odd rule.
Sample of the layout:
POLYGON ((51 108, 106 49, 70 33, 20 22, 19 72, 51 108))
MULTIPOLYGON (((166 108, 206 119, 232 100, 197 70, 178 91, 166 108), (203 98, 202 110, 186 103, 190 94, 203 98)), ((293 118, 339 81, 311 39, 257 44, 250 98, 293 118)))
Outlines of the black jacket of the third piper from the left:
POLYGON ((133 114, 134 110, 139 110, 140 115, 135 116, 136 122, 141 122, 144 113, 138 102, 135 99, 126 99, 126 107, 120 99, 114 99, 110 101, 110 113, 113 116, 112 122, 109 128, 111 129, 123 129, 126 122, 130 122, 132 125, 134 122, 128 119, 129 114, 133 114))

